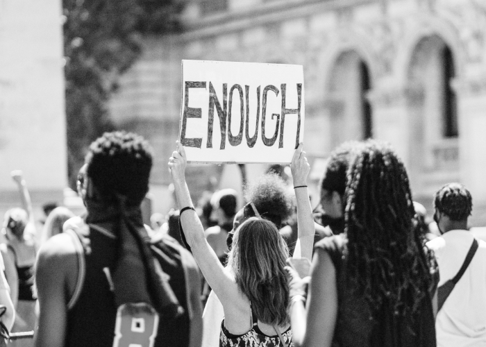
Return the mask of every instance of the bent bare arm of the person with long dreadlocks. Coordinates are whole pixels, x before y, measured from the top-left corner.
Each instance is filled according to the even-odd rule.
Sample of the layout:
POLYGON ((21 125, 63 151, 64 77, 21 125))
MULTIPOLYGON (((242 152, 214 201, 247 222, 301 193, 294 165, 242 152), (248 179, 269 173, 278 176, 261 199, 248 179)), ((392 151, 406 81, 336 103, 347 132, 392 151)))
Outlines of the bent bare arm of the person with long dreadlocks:
POLYGON ((328 253, 318 250, 312 262, 308 300, 290 308, 296 347, 330 347, 337 318, 336 272, 328 253))

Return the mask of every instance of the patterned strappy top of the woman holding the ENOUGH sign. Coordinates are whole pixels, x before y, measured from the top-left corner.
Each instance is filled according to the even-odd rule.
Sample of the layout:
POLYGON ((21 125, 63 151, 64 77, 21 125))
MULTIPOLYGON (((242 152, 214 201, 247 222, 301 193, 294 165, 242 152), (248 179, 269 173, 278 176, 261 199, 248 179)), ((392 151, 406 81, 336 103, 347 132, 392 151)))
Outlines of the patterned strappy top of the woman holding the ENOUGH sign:
MULTIPOLYGON (((267 336, 263 332, 261 332, 260 328, 258 328, 258 319, 251 310, 251 303, 250 303, 250 311, 251 311, 251 329, 249 332, 243 335, 233 335, 231 332, 228 332, 228 329, 224 326, 224 319, 221 321, 221 332, 219 334, 219 347, 284 347, 282 341, 278 335, 276 336, 267 336)), ((292 328, 289 327, 285 332, 282 333, 282 337, 287 344, 287 347, 293 347, 294 344, 292 343, 292 328)))

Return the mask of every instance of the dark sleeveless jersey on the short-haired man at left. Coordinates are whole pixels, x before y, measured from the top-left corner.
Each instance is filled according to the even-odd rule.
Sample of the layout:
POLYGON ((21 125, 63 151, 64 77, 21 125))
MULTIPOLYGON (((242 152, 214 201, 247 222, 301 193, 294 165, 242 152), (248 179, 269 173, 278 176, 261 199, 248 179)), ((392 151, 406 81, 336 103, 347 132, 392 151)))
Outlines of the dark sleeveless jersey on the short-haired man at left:
MULTIPOLYGON (((84 226, 84 229, 89 232, 65 230, 72 236, 78 254, 76 288, 67 303, 65 347, 112 347, 117 325, 117 307, 109 269, 115 266, 117 239, 109 230, 94 224, 90 224, 89 229, 84 226)), ((181 271, 184 256, 175 245, 161 240, 156 248, 158 253, 154 257, 170 276, 169 285, 185 313, 172 321, 160 320, 156 337, 147 346, 188 346, 191 310, 187 307, 187 278, 185 271, 181 271)), ((124 343, 119 346, 122 344, 124 343)))

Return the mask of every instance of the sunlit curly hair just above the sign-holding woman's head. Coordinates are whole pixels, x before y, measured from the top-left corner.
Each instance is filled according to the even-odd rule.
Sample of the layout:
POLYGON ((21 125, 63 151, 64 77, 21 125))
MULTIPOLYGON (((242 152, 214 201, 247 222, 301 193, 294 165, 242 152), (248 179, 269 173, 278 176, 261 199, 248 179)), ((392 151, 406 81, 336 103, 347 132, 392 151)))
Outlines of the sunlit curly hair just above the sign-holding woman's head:
POLYGON ((277 228, 281 228, 292 213, 292 198, 285 181, 277 174, 261 176, 246 187, 244 197, 255 205, 262 218, 274 222, 277 228))

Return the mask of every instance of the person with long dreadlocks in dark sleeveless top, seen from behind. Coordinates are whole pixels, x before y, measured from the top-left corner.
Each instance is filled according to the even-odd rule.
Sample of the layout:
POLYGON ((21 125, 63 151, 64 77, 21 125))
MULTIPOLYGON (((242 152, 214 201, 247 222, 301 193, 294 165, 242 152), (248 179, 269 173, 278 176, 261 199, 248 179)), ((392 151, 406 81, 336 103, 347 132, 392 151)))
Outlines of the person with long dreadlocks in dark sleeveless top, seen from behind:
POLYGON ((312 280, 287 266, 294 346, 436 346, 435 268, 414 228, 407 171, 389 145, 355 147, 344 198, 344 233, 316 244, 312 280))

